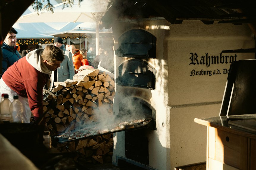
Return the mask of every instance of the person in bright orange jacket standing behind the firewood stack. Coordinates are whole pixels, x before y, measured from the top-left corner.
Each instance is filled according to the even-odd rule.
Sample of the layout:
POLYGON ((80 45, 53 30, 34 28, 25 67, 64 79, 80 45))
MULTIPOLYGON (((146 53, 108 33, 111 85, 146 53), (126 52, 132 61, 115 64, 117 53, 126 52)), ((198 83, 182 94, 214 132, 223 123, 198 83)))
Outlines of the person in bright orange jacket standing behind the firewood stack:
POLYGON ((83 59, 83 55, 80 54, 80 50, 77 50, 75 48, 75 45, 69 46, 69 50, 72 54, 72 60, 73 60, 75 70, 78 70, 79 67, 83 65, 89 65, 88 61, 86 62, 86 60, 83 59))

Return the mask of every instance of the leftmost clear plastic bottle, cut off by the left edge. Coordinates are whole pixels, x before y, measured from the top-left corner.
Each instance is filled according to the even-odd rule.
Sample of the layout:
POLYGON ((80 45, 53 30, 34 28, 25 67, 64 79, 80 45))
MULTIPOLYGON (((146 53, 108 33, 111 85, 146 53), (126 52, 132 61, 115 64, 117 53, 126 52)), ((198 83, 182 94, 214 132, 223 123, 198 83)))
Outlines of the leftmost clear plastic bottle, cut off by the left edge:
POLYGON ((0 119, 4 123, 12 121, 12 114, 10 114, 10 105, 11 102, 9 100, 9 95, 4 95, 4 100, 1 102, 1 112, 0 112, 0 119))

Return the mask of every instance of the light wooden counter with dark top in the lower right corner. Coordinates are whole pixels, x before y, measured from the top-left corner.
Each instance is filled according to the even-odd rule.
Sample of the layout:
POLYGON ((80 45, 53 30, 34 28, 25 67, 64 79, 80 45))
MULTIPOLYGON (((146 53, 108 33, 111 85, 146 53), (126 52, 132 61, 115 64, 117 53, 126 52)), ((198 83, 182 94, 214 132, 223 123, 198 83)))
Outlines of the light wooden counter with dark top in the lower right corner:
POLYGON ((207 126, 207 170, 256 169, 256 114, 195 118, 195 122, 207 126))

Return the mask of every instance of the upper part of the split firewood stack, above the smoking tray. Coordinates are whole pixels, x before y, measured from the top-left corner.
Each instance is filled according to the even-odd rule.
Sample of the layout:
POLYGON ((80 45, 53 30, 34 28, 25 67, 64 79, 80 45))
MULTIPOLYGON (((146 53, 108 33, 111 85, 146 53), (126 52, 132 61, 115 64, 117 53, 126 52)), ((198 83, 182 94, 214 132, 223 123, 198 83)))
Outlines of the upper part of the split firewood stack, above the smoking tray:
POLYGON ((102 108, 105 110, 101 111, 113 115, 115 82, 106 72, 88 68, 76 74, 73 80, 54 82, 54 85, 43 100, 51 135, 73 130, 78 122, 79 126, 89 121, 97 122, 96 113, 102 108))

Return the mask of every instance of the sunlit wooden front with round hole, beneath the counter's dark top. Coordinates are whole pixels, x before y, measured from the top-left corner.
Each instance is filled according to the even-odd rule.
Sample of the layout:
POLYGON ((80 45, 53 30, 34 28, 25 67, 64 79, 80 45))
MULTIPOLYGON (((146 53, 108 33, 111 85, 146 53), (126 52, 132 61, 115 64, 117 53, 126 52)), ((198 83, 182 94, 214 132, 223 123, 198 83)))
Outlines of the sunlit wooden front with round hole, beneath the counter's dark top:
POLYGON ((247 169, 248 138, 214 127, 207 128, 208 169, 247 169))

